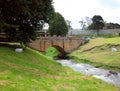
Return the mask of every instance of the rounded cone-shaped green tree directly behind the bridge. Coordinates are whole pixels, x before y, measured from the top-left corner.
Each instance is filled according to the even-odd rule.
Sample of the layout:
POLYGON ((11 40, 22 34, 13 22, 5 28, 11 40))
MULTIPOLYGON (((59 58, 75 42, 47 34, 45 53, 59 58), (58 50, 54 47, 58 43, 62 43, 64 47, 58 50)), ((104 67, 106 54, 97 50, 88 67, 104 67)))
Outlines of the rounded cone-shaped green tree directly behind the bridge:
POLYGON ((65 22, 64 17, 61 14, 54 14, 50 22, 49 33, 51 36, 65 36, 68 33, 67 24, 65 22))

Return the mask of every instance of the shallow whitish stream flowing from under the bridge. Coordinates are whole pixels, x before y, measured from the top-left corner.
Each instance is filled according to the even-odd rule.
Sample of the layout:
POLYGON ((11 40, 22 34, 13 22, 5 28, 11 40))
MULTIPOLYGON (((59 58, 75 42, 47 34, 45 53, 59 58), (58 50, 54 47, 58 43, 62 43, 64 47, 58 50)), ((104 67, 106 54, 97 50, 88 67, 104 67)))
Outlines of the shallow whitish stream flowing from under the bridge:
POLYGON ((74 63, 72 60, 57 60, 57 62, 61 63, 63 66, 69 66, 74 71, 84 75, 93 76, 120 87, 120 73, 118 72, 95 68, 89 64, 74 63))

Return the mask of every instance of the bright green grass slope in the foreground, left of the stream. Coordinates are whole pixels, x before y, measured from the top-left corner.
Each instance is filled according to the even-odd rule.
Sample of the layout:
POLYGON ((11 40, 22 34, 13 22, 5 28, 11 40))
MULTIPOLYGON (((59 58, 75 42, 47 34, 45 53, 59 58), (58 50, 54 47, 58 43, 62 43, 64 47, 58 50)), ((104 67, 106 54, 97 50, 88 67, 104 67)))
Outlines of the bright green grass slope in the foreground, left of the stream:
POLYGON ((0 45, 0 91, 118 91, 120 88, 63 67, 32 49, 0 45))

